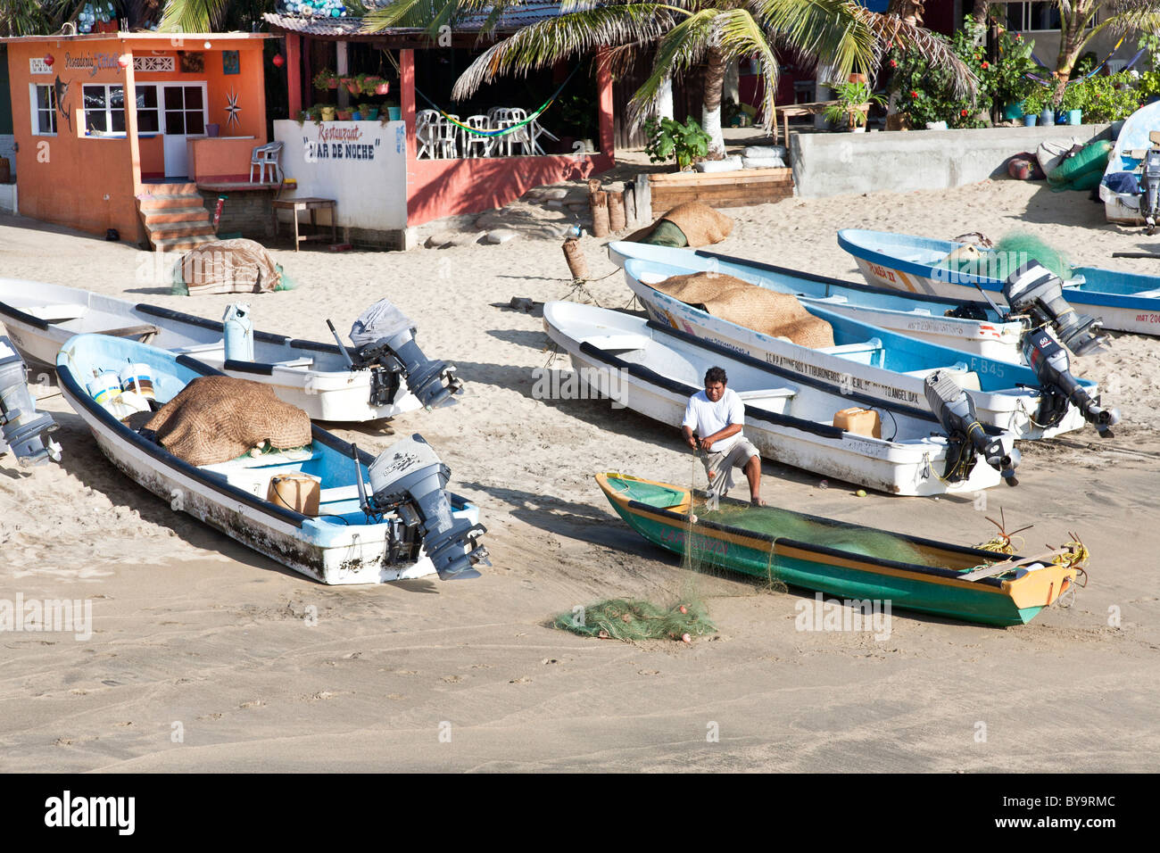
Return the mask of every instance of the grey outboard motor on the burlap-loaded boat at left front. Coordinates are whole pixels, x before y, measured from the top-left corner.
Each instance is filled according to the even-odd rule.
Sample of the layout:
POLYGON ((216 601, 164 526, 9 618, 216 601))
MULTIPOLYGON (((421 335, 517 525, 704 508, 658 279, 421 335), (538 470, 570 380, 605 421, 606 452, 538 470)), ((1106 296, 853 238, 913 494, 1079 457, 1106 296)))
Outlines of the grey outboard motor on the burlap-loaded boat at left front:
POLYGON ((443 580, 478 578, 472 566, 491 565, 487 549, 479 544, 487 528, 451 514, 445 491, 450 477, 451 470, 416 434, 391 444, 371 463, 371 494, 360 500, 368 514, 393 511, 405 528, 416 533, 443 580))

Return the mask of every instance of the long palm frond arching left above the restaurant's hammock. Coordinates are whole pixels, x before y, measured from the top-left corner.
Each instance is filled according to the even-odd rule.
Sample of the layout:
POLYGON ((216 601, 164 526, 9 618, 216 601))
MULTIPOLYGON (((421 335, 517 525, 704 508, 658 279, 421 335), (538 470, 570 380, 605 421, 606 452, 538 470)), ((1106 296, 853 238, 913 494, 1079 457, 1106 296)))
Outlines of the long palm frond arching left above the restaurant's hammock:
POLYGON ((467 66, 451 97, 470 97, 485 82, 508 73, 528 74, 596 48, 644 45, 672 28, 673 13, 652 2, 617 3, 538 21, 496 42, 467 66))

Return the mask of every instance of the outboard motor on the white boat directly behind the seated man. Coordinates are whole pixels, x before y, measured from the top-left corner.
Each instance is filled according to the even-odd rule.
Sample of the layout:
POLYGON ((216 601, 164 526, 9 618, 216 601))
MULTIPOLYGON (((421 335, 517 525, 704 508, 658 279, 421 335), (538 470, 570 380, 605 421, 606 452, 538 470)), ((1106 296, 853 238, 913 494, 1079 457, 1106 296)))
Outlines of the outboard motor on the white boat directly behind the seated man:
POLYGON ((1008 453, 1000 435, 987 435, 974 411, 974 400, 955 381, 951 373, 935 370, 927 376, 927 403, 938 422, 947 431, 947 471, 943 475, 951 483, 966 479, 974 468, 976 454, 999 471, 1009 486, 1018 485, 1015 469, 1018 468, 1020 451, 1013 447, 1008 453))

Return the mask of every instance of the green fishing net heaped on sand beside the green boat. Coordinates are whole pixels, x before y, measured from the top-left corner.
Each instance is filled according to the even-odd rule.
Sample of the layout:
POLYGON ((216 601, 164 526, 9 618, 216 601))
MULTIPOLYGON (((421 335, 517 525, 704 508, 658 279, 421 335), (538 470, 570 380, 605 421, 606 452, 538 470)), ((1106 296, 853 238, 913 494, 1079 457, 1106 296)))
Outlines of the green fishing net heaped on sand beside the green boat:
POLYGON ((690 600, 672 607, 660 607, 650 601, 606 599, 587 607, 561 613, 552 621, 559 628, 586 637, 611 639, 681 639, 716 634, 704 603, 690 600))

